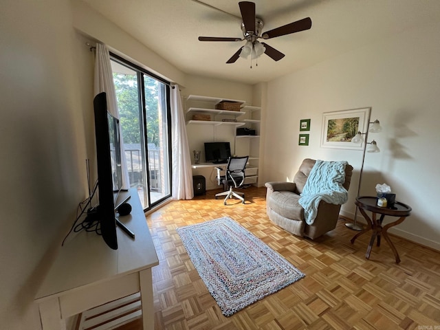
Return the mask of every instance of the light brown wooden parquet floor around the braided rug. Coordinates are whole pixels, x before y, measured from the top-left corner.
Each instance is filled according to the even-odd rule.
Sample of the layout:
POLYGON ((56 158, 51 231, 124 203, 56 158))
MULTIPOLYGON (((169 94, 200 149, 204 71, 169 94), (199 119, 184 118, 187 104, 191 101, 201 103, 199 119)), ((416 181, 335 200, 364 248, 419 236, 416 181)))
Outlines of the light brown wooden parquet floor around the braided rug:
MULTIPOLYGON (((147 216, 159 265, 153 268, 155 329, 437 329, 440 330, 440 252, 391 236, 370 236, 352 245, 355 233, 343 219, 311 241, 274 225, 265 213, 265 188, 247 188, 246 204, 223 206, 210 190, 189 201, 172 201, 147 216), (231 217, 305 273, 305 278, 226 318, 201 281, 175 228, 231 217)), ((406 220, 408 221, 410 217, 406 220)), ((119 330, 142 329, 140 320, 119 330)))

